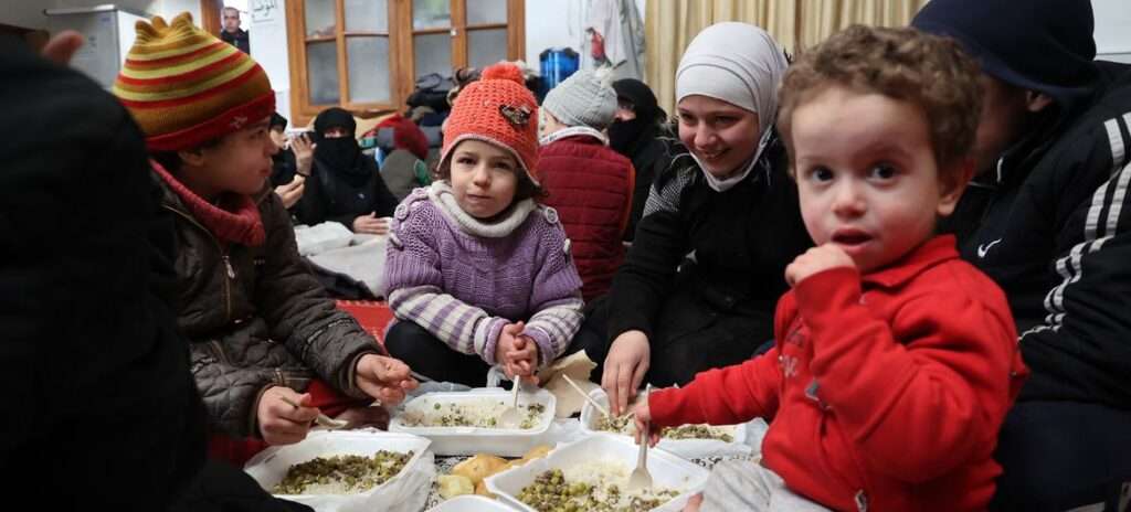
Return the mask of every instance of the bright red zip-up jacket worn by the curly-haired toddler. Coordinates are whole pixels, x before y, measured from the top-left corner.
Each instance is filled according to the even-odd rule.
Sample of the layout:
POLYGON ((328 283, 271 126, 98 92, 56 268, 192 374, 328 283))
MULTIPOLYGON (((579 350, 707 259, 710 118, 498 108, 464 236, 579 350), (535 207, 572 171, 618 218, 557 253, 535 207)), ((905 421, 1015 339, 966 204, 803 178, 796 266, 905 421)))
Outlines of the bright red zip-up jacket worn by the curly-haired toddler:
POLYGON ((983 510, 998 431, 1028 371, 1001 289, 952 236, 778 302, 776 344, 651 394, 657 426, 770 419, 762 463, 837 510, 983 510))

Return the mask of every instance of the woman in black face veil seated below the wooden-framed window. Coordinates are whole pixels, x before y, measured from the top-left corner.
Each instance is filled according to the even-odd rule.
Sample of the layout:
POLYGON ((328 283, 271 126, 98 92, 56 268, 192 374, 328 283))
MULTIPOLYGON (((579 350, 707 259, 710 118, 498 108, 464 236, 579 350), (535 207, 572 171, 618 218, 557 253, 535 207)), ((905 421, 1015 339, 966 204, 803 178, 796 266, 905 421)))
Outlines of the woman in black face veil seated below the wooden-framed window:
POLYGON ((334 220, 354 233, 380 235, 389 231, 387 217, 397 198, 377 171, 377 162, 362 154, 349 112, 333 107, 314 118, 314 166, 299 201, 296 217, 307 225, 334 220))

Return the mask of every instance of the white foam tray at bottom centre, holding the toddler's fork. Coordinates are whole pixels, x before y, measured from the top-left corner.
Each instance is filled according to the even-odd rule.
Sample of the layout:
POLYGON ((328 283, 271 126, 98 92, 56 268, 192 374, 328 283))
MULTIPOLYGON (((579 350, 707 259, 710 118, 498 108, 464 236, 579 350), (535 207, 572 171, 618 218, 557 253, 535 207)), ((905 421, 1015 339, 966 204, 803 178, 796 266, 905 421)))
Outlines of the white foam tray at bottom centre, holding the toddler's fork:
MULTIPOLYGON (((595 434, 580 441, 560 444, 545 458, 532 460, 523 466, 492 475, 486 478, 487 491, 507 504, 526 512, 539 512, 518 501, 523 487, 534 483, 544 471, 563 471, 580 465, 615 463, 624 466, 628 472, 636 468, 638 446, 622 435, 595 434)), ((710 471, 664 450, 648 451, 648 471, 653 485, 658 488, 675 489, 680 494, 654 511, 680 511, 688 500, 702 491, 710 471)))

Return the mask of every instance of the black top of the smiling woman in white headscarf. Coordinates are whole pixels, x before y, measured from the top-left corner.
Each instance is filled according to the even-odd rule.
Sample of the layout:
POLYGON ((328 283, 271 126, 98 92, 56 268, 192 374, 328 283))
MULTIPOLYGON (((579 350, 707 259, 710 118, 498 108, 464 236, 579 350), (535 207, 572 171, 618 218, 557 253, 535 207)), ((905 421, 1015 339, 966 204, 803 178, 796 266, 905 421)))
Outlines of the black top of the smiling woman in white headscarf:
POLYGON ((745 361, 774 336, 785 267, 812 245, 786 170, 784 147, 771 144, 725 192, 713 190, 685 153, 656 181, 656 206, 640 220, 607 300, 610 341, 629 330, 648 336, 649 382, 682 383, 745 361))

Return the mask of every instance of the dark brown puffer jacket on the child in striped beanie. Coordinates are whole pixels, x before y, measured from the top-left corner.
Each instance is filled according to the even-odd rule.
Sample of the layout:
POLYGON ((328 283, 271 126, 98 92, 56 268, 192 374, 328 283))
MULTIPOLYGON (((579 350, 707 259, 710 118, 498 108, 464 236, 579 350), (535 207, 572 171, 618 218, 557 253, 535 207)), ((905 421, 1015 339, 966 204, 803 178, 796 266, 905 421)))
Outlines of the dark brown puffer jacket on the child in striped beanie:
POLYGON ((222 243, 162 188, 162 206, 176 218, 176 322, 191 341, 192 374, 214 428, 259 436, 259 397, 273 385, 302 392, 321 379, 364 398, 354 384, 356 361, 381 348, 310 275, 279 198, 270 189, 254 198, 267 241, 249 248, 222 243))

